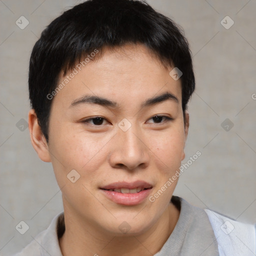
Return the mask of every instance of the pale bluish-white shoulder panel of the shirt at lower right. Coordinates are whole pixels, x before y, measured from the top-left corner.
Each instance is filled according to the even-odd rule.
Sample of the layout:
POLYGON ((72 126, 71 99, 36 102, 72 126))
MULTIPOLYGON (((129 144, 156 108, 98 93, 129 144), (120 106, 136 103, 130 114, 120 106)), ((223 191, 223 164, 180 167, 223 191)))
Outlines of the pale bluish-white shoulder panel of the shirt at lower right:
POLYGON ((255 225, 204 209, 214 231, 220 256, 252 256, 256 253, 255 225))

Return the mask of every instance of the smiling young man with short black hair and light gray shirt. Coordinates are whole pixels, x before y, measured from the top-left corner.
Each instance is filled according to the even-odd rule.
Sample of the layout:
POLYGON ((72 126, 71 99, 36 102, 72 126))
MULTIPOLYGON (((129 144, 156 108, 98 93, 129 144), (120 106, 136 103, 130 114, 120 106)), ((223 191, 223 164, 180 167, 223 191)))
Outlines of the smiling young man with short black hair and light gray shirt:
POLYGON ((64 212, 17 255, 256 253, 253 225, 172 195, 194 91, 172 20, 136 0, 78 4, 43 30, 28 82, 31 142, 64 212))

